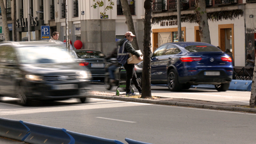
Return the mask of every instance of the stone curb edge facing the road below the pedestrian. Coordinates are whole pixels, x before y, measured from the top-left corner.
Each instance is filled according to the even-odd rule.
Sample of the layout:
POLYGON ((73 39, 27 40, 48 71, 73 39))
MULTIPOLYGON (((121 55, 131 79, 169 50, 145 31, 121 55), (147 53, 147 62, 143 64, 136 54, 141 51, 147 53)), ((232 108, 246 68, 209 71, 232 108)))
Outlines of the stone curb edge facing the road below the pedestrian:
POLYGON ((190 102, 138 99, 138 98, 132 98, 132 97, 105 96, 105 95, 97 95, 97 94, 90 94, 87 97, 96 98, 96 99, 122 100, 127 102, 141 102, 146 104, 161 104, 161 105, 168 105, 168 106, 183 106, 183 107, 189 107, 189 108, 203 108, 203 109, 216 109, 216 110, 225 110, 225 111, 256 113, 255 108, 241 108, 236 106, 216 106, 211 104, 195 104, 190 102))

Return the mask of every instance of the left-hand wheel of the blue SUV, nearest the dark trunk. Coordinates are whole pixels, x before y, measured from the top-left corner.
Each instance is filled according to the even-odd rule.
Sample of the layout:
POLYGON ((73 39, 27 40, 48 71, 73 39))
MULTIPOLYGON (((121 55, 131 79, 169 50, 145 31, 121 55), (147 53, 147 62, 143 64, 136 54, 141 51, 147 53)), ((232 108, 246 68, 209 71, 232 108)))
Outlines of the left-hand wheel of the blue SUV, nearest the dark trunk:
POLYGON ((173 69, 170 70, 167 81, 168 81, 168 88, 170 91, 177 92, 181 90, 182 84, 179 83, 178 74, 175 72, 175 70, 173 69))

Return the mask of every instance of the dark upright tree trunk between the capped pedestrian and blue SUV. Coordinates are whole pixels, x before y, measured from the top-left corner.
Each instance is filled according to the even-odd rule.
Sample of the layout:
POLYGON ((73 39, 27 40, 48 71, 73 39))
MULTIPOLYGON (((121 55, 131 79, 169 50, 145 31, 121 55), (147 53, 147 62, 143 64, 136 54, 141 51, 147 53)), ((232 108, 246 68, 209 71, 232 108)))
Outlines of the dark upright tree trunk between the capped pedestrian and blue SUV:
POLYGON ((144 55, 143 55, 143 70, 142 70, 142 93, 141 98, 152 97, 151 95, 151 20, 152 20, 152 2, 153 0, 145 0, 145 19, 144 19, 144 55))

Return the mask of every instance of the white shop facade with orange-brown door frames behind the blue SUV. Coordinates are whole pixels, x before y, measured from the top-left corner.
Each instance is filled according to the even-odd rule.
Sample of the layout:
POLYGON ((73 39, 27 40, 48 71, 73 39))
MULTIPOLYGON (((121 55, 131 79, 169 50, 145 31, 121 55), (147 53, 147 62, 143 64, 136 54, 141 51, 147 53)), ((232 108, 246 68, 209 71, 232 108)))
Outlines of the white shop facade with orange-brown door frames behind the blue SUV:
MULTIPOLYGON (((211 44, 230 49, 235 66, 246 66, 246 56, 255 60, 256 1, 206 0, 211 44)), ((195 0, 181 1, 182 41, 200 42, 195 21, 195 0)), ((166 42, 177 42, 177 1, 154 0, 152 18, 153 51, 166 42)))

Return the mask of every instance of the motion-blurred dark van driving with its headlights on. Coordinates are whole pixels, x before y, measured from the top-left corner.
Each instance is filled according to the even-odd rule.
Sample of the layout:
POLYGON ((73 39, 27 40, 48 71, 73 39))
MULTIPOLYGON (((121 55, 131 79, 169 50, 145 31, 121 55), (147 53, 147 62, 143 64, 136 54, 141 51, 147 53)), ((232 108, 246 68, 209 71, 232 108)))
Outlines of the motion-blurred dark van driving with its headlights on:
POLYGON ((90 78, 90 70, 80 67, 62 44, 0 44, 0 99, 17 97, 24 106, 31 100, 78 98, 85 102, 90 78))

